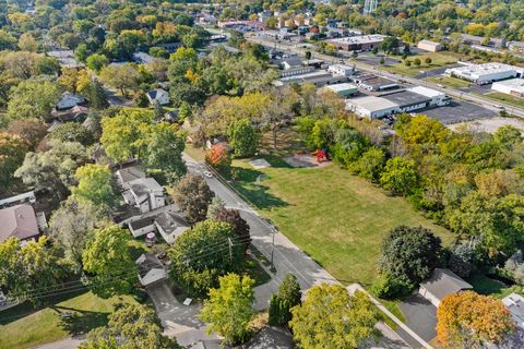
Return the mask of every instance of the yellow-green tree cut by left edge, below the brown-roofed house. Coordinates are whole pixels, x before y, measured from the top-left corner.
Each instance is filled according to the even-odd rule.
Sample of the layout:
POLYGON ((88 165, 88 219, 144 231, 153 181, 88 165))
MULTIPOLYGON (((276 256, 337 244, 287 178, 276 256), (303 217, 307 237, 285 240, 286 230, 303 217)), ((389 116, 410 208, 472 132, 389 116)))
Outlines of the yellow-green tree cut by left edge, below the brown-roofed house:
POLYGON ((52 292, 67 274, 59 251, 46 236, 27 243, 11 237, 0 243, 0 287, 11 299, 37 302, 52 292))

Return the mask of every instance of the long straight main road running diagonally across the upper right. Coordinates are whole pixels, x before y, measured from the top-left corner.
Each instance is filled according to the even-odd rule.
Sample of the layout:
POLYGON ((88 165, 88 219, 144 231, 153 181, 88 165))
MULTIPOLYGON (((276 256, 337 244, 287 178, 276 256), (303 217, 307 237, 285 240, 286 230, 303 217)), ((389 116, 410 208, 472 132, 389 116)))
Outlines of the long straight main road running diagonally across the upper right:
MULTIPOLYGON (((250 41, 253 41, 253 43, 259 43, 259 44, 262 44, 264 46, 269 46, 269 47, 275 47, 276 46, 276 48, 279 49, 279 50, 286 50, 286 51, 296 52, 296 53, 300 53, 300 55, 305 55, 306 51, 307 51, 307 49, 301 48, 300 44, 295 45, 293 43, 285 43, 285 41, 275 43, 271 39, 261 38, 261 37, 257 37, 257 36, 248 36, 247 39, 250 40, 250 41)), ((314 53, 314 57, 318 58, 318 59, 322 59, 325 62, 340 62, 341 61, 341 58, 326 56, 326 55, 322 55, 322 53, 318 53, 318 52, 314 53)), ((493 101, 493 100, 490 100, 488 98, 484 98, 484 97, 473 95, 468 92, 457 91, 457 89, 454 89, 454 88, 441 88, 437 84, 433 84, 433 83, 430 83, 430 82, 427 82, 427 81, 422 81, 422 80, 418 80, 416 77, 409 77, 409 76, 404 76, 404 75, 400 75, 400 74, 393 74, 393 73, 390 73, 388 71, 381 70, 379 67, 372 67, 372 65, 369 65, 369 64, 366 64, 366 63, 362 63, 362 62, 358 62, 358 61, 353 62, 352 61, 352 64, 353 63, 355 63, 355 67, 360 71, 380 74, 380 75, 389 77, 393 81, 401 81, 402 80, 402 81, 405 81, 409 84, 421 85, 421 86, 427 86, 427 87, 430 87, 430 88, 433 88, 433 89, 438 89, 438 91, 441 91, 441 92, 443 92, 443 93, 445 93, 445 94, 448 94, 452 97, 455 97, 455 98, 458 98, 458 99, 464 99, 464 100, 467 100, 467 101, 472 101, 474 104, 480 105, 484 108, 496 111, 496 112, 499 112, 500 109, 498 107, 495 107, 495 105, 501 105, 501 106, 505 107, 505 110, 510 110, 512 115, 514 115, 516 117, 523 117, 524 118, 524 109, 522 109, 522 108, 515 108, 515 107, 513 107, 511 105, 508 105, 508 104, 504 104, 504 103, 493 101)))

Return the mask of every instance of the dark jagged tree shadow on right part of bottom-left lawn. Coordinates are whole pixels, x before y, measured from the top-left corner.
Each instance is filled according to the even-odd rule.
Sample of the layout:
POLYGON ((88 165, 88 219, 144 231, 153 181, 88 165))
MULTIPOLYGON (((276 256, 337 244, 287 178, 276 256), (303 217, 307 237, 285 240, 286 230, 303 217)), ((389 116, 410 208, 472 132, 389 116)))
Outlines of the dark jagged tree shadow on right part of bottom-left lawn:
POLYGON ((68 306, 51 306, 60 317, 60 327, 71 336, 79 336, 88 333, 91 329, 105 326, 109 313, 78 310, 68 306))

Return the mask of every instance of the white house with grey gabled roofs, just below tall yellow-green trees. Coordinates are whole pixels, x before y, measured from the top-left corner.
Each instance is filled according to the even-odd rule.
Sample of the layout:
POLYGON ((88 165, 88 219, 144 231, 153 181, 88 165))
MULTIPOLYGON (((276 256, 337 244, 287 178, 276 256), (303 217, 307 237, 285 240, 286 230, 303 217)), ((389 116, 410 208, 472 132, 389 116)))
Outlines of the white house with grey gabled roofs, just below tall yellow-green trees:
POLYGON ((146 213, 166 205, 164 189, 153 178, 139 178, 127 183, 129 190, 122 195, 127 204, 146 213))

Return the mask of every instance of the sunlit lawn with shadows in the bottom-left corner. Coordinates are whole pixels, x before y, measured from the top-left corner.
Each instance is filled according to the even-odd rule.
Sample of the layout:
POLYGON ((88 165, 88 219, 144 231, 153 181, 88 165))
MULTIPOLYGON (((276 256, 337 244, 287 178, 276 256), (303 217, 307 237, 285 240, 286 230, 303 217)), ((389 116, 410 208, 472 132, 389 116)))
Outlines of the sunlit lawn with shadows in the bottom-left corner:
POLYGON ((119 300, 134 302, 131 297, 105 300, 84 291, 33 313, 26 304, 0 312, 0 349, 31 348, 104 326, 119 300), (62 312, 74 315, 62 318, 62 312))

